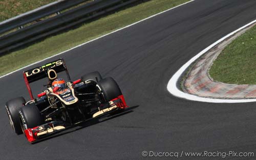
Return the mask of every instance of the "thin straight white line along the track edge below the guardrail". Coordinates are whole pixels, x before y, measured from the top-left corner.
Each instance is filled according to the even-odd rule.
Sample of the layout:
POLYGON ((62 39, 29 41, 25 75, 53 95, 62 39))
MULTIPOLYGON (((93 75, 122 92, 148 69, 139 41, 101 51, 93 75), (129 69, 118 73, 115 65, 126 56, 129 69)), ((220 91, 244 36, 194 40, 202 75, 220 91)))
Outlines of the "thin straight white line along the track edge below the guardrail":
POLYGON ((108 34, 105 34, 105 35, 103 35, 103 36, 100 36, 100 37, 95 38, 95 39, 93 39, 93 40, 90 40, 90 41, 88 41, 88 42, 79 44, 79 45, 77 45, 77 46, 75 46, 75 47, 73 47, 73 48, 71 48, 71 49, 62 51, 62 52, 60 52, 60 53, 57 54, 57 55, 48 57, 48 58, 43 59, 43 60, 41 60, 41 61, 37 61, 37 62, 35 62, 35 63, 32 63, 32 64, 28 65, 28 66, 19 68, 19 69, 15 70, 15 71, 12 71, 12 72, 10 72, 10 73, 7 73, 7 74, 5 74, 5 75, 2 75, 2 76, 0 76, 0 78, 3 78, 3 77, 5 77, 5 76, 7 76, 7 75, 10 75, 10 74, 12 74, 12 73, 14 73, 14 72, 17 72, 17 71, 19 71, 19 70, 22 70, 22 69, 27 68, 27 67, 29 67, 29 66, 32 66, 32 65, 34 65, 34 64, 40 63, 40 62, 42 62, 42 61, 45 61, 45 60, 51 59, 51 58, 53 58, 53 57, 59 56, 59 55, 61 55, 61 54, 64 54, 65 52, 68 52, 68 51, 72 50, 72 49, 75 49, 75 48, 80 47, 80 46, 82 46, 82 45, 85 45, 85 44, 87 44, 87 43, 93 42, 93 41, 98 40, 98 39, 100 39, 100 38, 102 38, 102 37, 105 37, 105 36, 108 36, 108 35, 113 34, 113 33, 115 33, 115 32, 118 32, 118 31, 120 31, 120 30, 129 28, 130 26, 135 25, 135 24, 137 24, 137 23, 139 23, 139 22, 142 22, 142 21, 144 21, 144 20, 150 19, 150 18, 155 17, 155 16, 157 16, 157 15, 159 15, 159 14, 162 14, 162 13, 164 13, 164 12, 170 11, 170 10, 172 10, 172 9, 175 9, 175 8, 177 8, 177 7, 180 7, 180 6, 183 6, 183 5, 188 4, 188 3, 190 3, 190 2, 193 2, 193 1, 195 1, 195 0, 188 1, 188 2, 186 2, 186 3, 184 3, 184 4, 179 5, 179 6, 176 6, 176 7, 170 8, 170 9, 167 9, 167 10, 165 10, 165 11, 163 11, 163 12, 157 13, 157 14, 155 14, 155 15, 152 15, 152 16, 150 16, 150 17, 147 17, 147 18, 145 18, 145 19, 142 19, 142 20, 137 21, 137 22, 135 22, 135 23, 132 23, 132 24, 130 24, 130 25, 124 26, 124 27, 121 28, 121 29, 118 29, 118 30, 113 31, 113 32, 108 33, 108 34))

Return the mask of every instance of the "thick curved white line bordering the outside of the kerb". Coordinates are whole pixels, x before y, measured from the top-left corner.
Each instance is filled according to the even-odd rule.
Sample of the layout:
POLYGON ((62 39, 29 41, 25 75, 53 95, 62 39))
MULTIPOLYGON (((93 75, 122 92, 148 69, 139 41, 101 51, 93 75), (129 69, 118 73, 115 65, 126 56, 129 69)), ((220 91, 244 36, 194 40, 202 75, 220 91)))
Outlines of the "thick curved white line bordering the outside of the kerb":
POLYGON ((254 102, 256 101, 256 99, 215 99, 215 98, 203 98, 203 97, 199 97, 196 95, 191 95, 188 93, 184 93, 182 91, 180 91, 177 88, 178 85, 178 80, 180 78, 180 76, 182 75, 182 73, 187 69, 187 67, 189 67, 194 61, 196 61, 200 56, 202 56, 203 54, 205 54, 205 52, 207 52, 210 48, 214 47, 215 45, 217 45, 218 43, 220 43, 221 41, 223 41, 224 39, 228 38, 229 36, 232 36, 233 34, 241 31, 242 29, 246 28, 247 26, 255 23, 256 20, 253 20, 252 22, 242 26, 240 29, 226 35, 225 37, 221 38, 220 40, 218 40, 217 42, 211 44, 210 46, 208 46, 207 48, 205 48, 204 50, 202 50, 199 54, 197 54, 195 57, 193 57, 192 59, 190 59, 187 63, 185 63, 174 75, 172 78, 170 78, 168 85, 167 85, 167 90, 173 94, 176 97, 180 97, 180 98, 185 98, 188 100, 194 100, 194 101, 202 101, 202 102, 211 102, 211 103, 242 103, 242 102, 254 102))

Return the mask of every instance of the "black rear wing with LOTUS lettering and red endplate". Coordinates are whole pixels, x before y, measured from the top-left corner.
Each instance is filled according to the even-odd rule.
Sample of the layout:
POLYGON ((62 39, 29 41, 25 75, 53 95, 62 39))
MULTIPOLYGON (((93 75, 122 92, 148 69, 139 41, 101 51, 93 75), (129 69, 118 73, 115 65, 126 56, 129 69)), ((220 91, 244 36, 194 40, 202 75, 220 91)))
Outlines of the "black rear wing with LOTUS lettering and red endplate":
POLYGON ((48 77, 48 70, 53 69, 56 73, 61 71, 66 71, 68 80, 70 81, 70 75, 63 59, 58 59, 53 62, 47 63, 43 66, 35 67, 33 69, 23 72, 23 77, 28 88, 31 99, 33 98, 32 91, 30 88, 30 83, 38 81, 39 79, 48 77))

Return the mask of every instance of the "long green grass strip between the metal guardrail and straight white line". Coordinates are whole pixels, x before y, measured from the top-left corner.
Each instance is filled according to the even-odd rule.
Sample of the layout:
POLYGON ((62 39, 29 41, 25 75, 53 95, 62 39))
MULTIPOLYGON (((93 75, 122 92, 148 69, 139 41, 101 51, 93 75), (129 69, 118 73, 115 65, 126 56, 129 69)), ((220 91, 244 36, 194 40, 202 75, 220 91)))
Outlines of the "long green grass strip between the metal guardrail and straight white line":
POLYGON ((78 44, 87 42, 188 1, 189 0, 152 0, 103 17, 91 23, 84 24, 76 30, 50 37, 25 49, 0 57, 0 75, 56 55, 78 44))

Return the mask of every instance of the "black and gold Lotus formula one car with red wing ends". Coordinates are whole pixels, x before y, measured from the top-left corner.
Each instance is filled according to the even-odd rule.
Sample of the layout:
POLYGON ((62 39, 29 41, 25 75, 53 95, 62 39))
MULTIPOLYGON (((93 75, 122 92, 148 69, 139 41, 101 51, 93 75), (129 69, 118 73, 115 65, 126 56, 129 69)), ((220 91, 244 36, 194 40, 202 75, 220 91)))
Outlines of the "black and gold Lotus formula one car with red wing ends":
POLYGON ((63 59, 23 73, 31 100, 17 97, 6 103, 10 124, 16 134, 25 134, 30 143, 71 126, 128 106, 112 77, 102 78, 99 72, 70 80, 63 59), (66 71, 68 81, 57 77, 66 71), (48 88, 34 98, 30 83, 48 77, 48 88))

